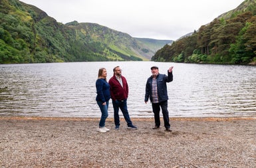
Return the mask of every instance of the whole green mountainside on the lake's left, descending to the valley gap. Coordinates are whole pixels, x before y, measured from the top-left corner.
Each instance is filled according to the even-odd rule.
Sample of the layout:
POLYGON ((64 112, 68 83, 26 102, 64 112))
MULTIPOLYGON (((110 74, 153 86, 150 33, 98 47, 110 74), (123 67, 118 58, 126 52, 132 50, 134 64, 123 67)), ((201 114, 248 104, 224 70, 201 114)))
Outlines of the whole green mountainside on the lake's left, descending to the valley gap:
POLYGON ((0 64, 150 60, 164 46, 153 41, 96 23, 58 23, 33 5, 0 1, 0 64))

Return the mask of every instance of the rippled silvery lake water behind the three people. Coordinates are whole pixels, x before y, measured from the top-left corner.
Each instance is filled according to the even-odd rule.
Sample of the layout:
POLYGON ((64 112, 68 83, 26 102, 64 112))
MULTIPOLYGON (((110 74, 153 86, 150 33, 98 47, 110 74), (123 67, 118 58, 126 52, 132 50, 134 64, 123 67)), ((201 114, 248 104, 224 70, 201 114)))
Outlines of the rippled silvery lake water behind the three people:
POLYGON ((131 117, 153 117, 151 104, 144 104, 152 65, 164 74, 174 66, 174 81, 168 84, 170 117, 256 116, 256 66, 172 62, 0 64, 0 115, 98 118, 98 69, 106 68, 109 79, 117 65, 128 80, 131 117))

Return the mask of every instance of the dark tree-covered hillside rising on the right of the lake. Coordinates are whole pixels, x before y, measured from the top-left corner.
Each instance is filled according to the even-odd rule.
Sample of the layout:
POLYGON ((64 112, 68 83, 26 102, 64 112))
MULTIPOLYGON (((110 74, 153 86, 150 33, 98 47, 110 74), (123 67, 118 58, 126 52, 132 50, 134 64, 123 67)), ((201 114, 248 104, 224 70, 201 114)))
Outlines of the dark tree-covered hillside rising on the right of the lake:
POLYGON ((256 1, 245 0, 237 8, 202 25, 192 35, 166 45, 154 61, 211 64, 256 64, 256 1))

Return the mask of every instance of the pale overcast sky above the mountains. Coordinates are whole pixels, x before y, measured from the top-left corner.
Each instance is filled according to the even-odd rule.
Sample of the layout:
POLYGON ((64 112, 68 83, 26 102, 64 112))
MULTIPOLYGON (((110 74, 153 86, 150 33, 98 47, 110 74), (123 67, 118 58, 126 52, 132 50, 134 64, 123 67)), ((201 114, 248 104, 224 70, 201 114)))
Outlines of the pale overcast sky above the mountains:
POLYGON ((98 23, 132 37, 176 40, 244 0, 21 0, 60 23, 98 23))

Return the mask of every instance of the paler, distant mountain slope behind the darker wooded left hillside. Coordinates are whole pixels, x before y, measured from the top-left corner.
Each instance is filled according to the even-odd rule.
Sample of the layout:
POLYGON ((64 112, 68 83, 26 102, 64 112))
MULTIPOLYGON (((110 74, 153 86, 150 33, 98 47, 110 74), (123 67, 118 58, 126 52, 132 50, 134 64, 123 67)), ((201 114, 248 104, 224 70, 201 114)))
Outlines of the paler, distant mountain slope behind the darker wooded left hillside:
POLYGON ((122 54, 134 54, 139 58, 146 58, 147 60, 150 60, 156 50, 164 46, 164 42, 171 42, 154 39, 149 39, 151 42, 143 41, 140 38, 131 37, 127 33, 121 33, 96 23, 77 23, 73 21, 66 23, 66 25, 78 32, 86 33, 93 41, 107 44, 113 52, 118 50, 122 54))

